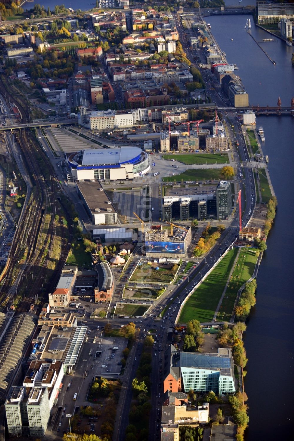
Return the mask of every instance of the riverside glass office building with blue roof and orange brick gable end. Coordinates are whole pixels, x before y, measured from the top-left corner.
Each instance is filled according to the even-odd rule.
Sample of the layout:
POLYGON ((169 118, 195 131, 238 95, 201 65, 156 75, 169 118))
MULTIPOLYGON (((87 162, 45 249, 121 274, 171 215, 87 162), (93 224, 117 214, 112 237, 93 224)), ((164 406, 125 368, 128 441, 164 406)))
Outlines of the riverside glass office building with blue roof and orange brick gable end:
POLYGON ((215 353, 180 352, 173 345, 166 351, 167 374, 164 393, 210 392, 220 396, 234 393, 234 360, 231 349, 219 348, 215 353))

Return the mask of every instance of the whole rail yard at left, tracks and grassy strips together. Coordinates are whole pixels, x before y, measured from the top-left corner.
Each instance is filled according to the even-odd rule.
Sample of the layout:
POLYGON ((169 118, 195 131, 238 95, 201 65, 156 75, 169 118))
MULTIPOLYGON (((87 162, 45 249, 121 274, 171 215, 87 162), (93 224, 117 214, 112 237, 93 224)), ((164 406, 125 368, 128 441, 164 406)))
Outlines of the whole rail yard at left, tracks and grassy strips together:
MULTIPOLYGON (((29 121, 29 109, 4 87, 3 82, 0 82, 0 94, 18 108, 23 123, 29 121)), ((7 262, 0 275, 0 309, 3 312, 15 306, 17 312, 27 312, 31 305, 35 309, 41 308, 42 295, 47 298, 45 293, 54 288, 67 260, 72 235, 71 217, 62 205, 60 185, 34 133, 21 129, 16 132, 15 141, 22 152, 21 160, 29 185, 7 262), (52 265, 48 269, 57 239, 60 255, 54 262, 54 269, 52 265)))

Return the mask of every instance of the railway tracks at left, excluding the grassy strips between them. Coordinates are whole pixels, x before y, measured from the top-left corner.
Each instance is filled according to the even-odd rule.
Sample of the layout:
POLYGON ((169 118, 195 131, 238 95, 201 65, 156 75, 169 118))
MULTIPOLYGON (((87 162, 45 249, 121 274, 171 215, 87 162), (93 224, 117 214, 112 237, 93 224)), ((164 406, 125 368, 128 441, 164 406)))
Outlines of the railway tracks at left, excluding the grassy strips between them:
MULTIPOLYGON (((15 97, 9 90, 4 87, 4 82, 0 81, 0 93, 6 94, 6 97, 10 99, 12 103, 15 103, 19 109, 20 116, 23 123, 29 121, 29 112, 25 105, 19 98, 15 97)), ((10 254, 7 259, 6 272, 0 277, 0 282, 3 280, 3 285, 0 286, 0 308, 8 310, 13 302, 13 295, 17 288, 21 288, 26 281, 24 277, 30 274, 34 274, 35 280, 32 282, 27 295, 22 299, 18 306, 19 312, 26 312, 30 310, 30 305, 35 303, 36 296, 40 293, 41 288, 44 285, 44 278, 46 276, 46 269, 48 260, 50 259, 50 251, 55 236, 55 214, 56 205, 61 204, 56 197, 56 179, 54 178, 55 172, 50 161, 45 154, 38 148, 37 142, 33 135, 30 134, 28 129, 21 129, 17 135, 17 141, 22 149, 23 162, 26 165, 26 169, 30 174, 30 178, 33 184, 32 196, 28 205, 24 211, 22 221, 19 222, 15 237, 11 245, 10 254), (36 159, 36 153, 41 155, 43 161, 45 161, 46 168, 50 172, 50 182, 45 183, 45 177, 42 175, 40 165, 36 159), (41 233, 45 227, 45 217, 47 213, 47 207, 52 207, 52 215, 48 225, 48 230, 41 243, 41 233), (53 208, 54 207, 54 208, 53 208), (48 253, 44 256, 43 246, 49 244, 48 253), (15 266, 18 264, 24 251, 27 250, 27 255, 22 269, 19 270, 19 274, 15 274, 15 266)), ((65 207, 63 207, 64 209, 65 207)), ((69 250, 71 248, 71 218, 69 217, 67 210, 64 209, 65 217, 68 221, 68 232, 62 222, 60 222, 61 228, 61 253, 59 261, 56 265, 51 279, 48 281, 48 289, 46 291, 52 291, 59 279, 60 272, 67 260, 69 250), (68 237, 68 235, 70 237, 68 237)), ((42 303, 40 304, 40 307, 42 303)))

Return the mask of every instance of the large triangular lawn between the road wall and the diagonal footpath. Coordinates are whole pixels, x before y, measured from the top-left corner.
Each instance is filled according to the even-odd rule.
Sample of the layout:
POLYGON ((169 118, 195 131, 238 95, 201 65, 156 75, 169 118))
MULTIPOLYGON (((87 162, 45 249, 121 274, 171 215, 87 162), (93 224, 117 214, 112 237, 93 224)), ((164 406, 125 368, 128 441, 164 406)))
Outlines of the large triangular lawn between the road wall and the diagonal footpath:
POLYGON ((201 323, 212 320, 237 253, 237 248, 230 250, 194 291, 182 309, 179 323, 187 323, 193 319, 201 323))

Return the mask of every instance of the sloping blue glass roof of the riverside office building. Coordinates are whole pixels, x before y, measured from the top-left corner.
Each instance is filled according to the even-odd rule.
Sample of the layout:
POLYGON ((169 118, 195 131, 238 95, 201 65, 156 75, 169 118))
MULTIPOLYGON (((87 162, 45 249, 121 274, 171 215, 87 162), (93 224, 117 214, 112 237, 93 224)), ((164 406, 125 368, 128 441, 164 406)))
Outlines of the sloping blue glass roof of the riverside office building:
POLYGON ((217 354, 195 354, 181 352, 180 367, 196 367, 199 369, 230 369, 231 359, 217 354))

